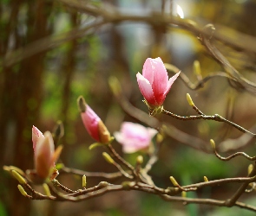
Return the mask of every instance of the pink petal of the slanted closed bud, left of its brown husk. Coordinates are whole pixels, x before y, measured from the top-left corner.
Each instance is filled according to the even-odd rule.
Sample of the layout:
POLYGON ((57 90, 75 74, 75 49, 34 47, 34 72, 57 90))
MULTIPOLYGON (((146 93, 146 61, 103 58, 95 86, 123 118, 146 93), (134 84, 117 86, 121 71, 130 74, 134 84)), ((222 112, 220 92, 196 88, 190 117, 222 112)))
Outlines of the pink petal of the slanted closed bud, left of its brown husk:
POLYGON ((101 121, 95 111, 93 111, 89 105, 86 105, 86 111, 81 112, 82 122, 88 131, 90 137, 93 137, 96 141, 101 142, 99 136, 98 123, 101 121))

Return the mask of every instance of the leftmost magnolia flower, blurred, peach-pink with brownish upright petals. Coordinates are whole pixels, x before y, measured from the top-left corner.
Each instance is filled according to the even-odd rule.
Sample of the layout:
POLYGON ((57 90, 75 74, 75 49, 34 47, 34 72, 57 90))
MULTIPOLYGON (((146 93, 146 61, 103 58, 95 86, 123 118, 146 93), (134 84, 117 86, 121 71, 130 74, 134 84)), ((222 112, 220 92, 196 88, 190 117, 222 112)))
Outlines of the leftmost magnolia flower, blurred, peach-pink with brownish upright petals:
POLYGON ((32 128, 35 171, 30 171, 31 181, 43 182, 52 178, 55 162, 61 154, 62 146, 55 150, 54 141, 49 131, 44 134, 35 126, 32 128))

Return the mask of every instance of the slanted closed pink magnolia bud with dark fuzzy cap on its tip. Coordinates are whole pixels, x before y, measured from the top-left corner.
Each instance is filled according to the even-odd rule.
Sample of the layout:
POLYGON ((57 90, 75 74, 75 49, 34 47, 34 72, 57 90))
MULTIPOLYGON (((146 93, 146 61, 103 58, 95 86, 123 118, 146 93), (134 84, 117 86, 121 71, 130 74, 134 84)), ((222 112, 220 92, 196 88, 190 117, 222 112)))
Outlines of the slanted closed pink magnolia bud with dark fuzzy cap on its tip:
POLYGON ((90 137, 99 143, 109 143, 110 134, 101 118, 86 104, 82 96, 77 99, 77 102, 81 111, 82 123, 89 132, 90 137))

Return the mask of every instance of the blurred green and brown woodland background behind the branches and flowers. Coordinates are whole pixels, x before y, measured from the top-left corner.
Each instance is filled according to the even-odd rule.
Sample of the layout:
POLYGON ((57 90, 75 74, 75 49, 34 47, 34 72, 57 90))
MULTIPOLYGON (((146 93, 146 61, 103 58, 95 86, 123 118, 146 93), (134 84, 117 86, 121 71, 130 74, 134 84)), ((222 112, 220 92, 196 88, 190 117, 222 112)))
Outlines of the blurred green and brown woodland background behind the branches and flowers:
MULTIPOLYGON (((69 2, 70 5, 72 1, 69 2)), ((69 3, 51 0, 1 0, 0 2, 0 164, 14 165, 23 170, 33 168, 31 128, 53 130, 56 121, 62 120, 65 136, 61 160, 70 168, 87 171, 115 172, 104 162, 102 149, 89 151, 94 141, 82 125, 76 98, 82 95, 102 118, 108 130, 120 129, 122 121, 138 122, 129 117, 108 87, 109 76, 117 77, 132 105, 147 112, 141 102, 141 92, 135 74, 141 72, 148 57, 158 57, 179 67, 189 79, 196 82, 194 60, 199 60, 202 76, 223 71, 207 54, 196 36, 178 26, 171 28, 151 26, 142 22, 115 22, 84 31, 95 22, 95 17, 70 7, 69 3)), ((256 35, 256 1, 249 0, 102 0, 79 1, 82 4, 114 9, 134 16, 150 15, 151 12, 167 16, 189 18, 201 26, 213 23, 223 28, 223 35, 237 40, 236 32, 256 35), (183 14, 183 15, 182 15, 183 14)), ((71 5, 72 6, 72 5, 71 5)), ((153 15, 152 15, 153 16, 153 15)), ((245 41, 243 41, 245 42, 245 41)), ((255 41, 254 41, 255 42, 255 41)), ((221 41, 217 48, 247 79, 255 81, 255 54, 234 49, 221 41)), ((170 76, 172 73, 169 74, 170 76)), ((218 113, 250 129, 255 123, 256 99, 253 94, 233 88, 225 78, 209 80, 200 90, 190 90, 177 79, 165 101, 165 109, 181 116, 195 115, 187 105, 189 92, 201 111, 208 115, 218 113)), ((198 120, 181 122, 174 118, 158 116, 161 121, 173 124, 179 130, 208 142, 213 138, 220 143, 242 134, 224 124, 198 120)), ((191 140, 193 143, 194 140, 191 140)), ((121 146, 114 143, 122 155, 121 146)), ((251 143, 242 149, 255 155, 251 143)), ((225 154, 224 154, 225 155, 225 154)), ((124 156, 135 164, 135 155, 124 156)), ((171 185, 173 175, 181 185, 225 177, 245 176, 250 162, 236 158, 221 162, 213 155, 167 138, 150 175, 159 187, 171 185)), ((58 180, 72 189, 81 187, 81 180, 72 175, 60 175, 58 180)), ((102 179, 88 178, 89 187, 102 179)), ((212 207, 167 203, 153 194, 118 192, 105 194, 79 203, 59 203, 47 200, 27 200, 16 188, 17 182, 0 170, 0 215, 253 215, 236 207, 212 207)), ((191 197, 209 197, 225 200, 238 187, 207 187, 191 197)), ((40 187, 36 187, 42 190, 40 187)), ((253 193, 241 200, 255 203, 253 193)))

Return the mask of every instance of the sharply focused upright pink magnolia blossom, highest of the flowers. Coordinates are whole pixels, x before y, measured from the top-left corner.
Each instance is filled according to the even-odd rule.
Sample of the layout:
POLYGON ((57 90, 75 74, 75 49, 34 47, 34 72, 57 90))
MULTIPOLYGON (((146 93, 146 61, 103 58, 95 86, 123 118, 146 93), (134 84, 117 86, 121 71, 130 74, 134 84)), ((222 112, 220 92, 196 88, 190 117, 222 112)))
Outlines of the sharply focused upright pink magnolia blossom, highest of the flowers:
POLYGON ((136 75, 141 94, 148 104, 161 106, 179 74, 180 72, 168 79, 167 69, 161 58, 148 58, 144 63, 142 75, 141 73, 136 75))

